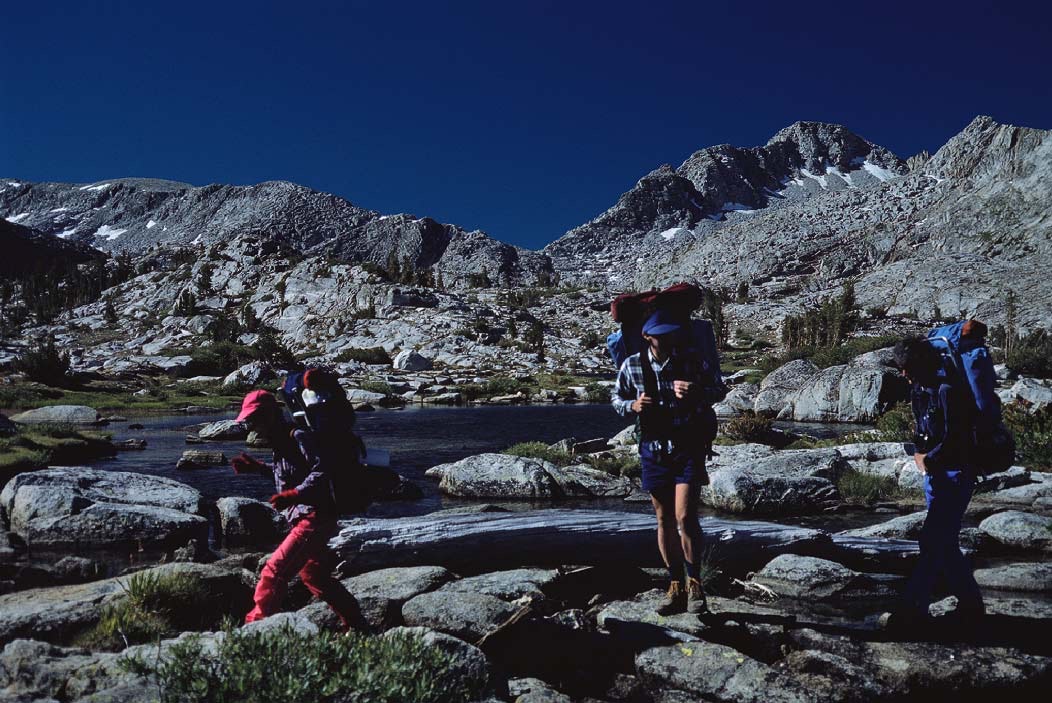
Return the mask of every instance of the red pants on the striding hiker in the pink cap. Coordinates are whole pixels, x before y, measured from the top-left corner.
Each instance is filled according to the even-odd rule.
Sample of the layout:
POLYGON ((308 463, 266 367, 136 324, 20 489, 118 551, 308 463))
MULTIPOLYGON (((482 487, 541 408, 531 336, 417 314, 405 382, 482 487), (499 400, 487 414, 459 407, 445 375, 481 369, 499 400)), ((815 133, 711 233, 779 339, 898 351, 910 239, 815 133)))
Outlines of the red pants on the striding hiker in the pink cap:
POLYGON ((328 603, 344 626, 357 628, 361 625, 358 601, 332 577, 332 553, 328 541, 336 529, 335 519, 318 518, 313 514, 296 521, 263 567, 256 584, 256 607, 245 616, 246 623, 278 612, 288 591, 288 582, 299 573, 307 589, 328 603))

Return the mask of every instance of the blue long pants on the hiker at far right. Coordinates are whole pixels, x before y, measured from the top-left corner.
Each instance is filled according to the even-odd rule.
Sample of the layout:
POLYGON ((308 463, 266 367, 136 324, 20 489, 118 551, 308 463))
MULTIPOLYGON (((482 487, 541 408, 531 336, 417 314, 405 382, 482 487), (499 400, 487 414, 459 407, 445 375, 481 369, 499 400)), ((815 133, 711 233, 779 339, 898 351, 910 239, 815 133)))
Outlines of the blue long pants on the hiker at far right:
POLYGON ((960 520, 972 499, 974 481, 964 471, 925 476, 928 516, 920 529, 920 559, 906 585, 905 601, 918 615, 928 614, 935 581, 942 575, 958 609, 977 609, 983 596, 971 566, 960 554, 960 520))

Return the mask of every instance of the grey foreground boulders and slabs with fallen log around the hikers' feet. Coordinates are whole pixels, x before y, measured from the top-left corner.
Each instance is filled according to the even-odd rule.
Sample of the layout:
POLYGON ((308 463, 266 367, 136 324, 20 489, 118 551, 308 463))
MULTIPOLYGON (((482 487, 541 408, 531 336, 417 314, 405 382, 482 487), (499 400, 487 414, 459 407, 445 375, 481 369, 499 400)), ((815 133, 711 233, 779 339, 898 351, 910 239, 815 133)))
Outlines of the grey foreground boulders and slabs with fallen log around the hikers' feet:
MULTIPOLYGON (((1013 467, 973 501, 962 537, 987 596, 982 625, 957 630, 945 616, 947 624, 907 638, 882 630, 877 616, 917 554, 916 494, 868 508, 865 527, 803 525, 845 509, 846 475, 914 489, 901 445, 717 447, 703 500, 730 519, 702 520, 711 614, 700 618, 653 611, 664 569, 652 516, 587 506, 639 494, 630 475, 587 463, 634 451, 629 430, 563 448, 580 463, 479 455, 429 471, 443 491, 481 501, 473 507, 343 521, 331 543, 338 573, 371 626, 452 652, 457 676, 489 700, 877 701, 1004 689, 1039 700, 1052 680, 1052 648, 1039 635, 1052 621, 1052 474, 1013 467), (485 501, 532 506, 509 511, 485 501)), ((8 530, 0 691, 63 703, 150 700, 156 683, 118 662, 163 657, 187 637, 93 646, 86 634, 128 597, 129 579, 190 579, 214 615, 237 619, 266 556, 244 549, 267 549, 287 529, 265 503, 210 505, 178 481, 86 467, 16 476, 0 494, 0 517, 8 530), (211 514, 219 520, 209 539, 211 514), (100 579, 93 555, 106 549, 140 550, 142 561, 100 579), (41 573, 26 551, 65 559, 41 573), (166 563, 150 566, 151 554, 166 563)), ((337 627, 302 586, 285 610, 254 627, 337 627)), ((934 615, 950 610, 952 599, 932 606, 934 615)), ((199 630, 206 642, 224 637, 215 625, 199 630)))

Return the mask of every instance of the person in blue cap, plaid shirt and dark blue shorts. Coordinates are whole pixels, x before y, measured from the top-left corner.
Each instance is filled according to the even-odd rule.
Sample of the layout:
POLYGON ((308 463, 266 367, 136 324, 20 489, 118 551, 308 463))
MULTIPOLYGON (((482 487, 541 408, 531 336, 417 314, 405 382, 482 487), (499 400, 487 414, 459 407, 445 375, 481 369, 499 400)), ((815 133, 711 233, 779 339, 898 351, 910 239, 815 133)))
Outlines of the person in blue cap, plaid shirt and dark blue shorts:
POLYGON ((707 610, 697 502, 701 487, 709 482, 705 459, 715 434, 711 405, 726 395, 719 366, 710 368, 696 356, 681 353, 682 332, 683 324, 666 310, 647 318, 647 346, 622 363, 612 394, 619 414, 640 419, 643 489, 656 513, 658 548, 670 581, 658 607, 661 615, 707 610))

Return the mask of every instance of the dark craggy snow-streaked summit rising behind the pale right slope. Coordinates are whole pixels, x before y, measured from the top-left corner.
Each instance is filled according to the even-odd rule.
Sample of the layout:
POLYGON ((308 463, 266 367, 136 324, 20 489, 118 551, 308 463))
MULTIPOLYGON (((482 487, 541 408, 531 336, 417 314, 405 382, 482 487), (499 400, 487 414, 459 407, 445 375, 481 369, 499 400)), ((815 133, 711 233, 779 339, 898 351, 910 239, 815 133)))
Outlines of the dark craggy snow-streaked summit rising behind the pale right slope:
POLYGON ((564 276, 579 278, 584 270, 590 279, 623 286, 641 255, 702 239, 736 214, 829 189, 866 187, 904 173, 902 159, 841 125, 796 122, 761 147, 722 144, 695 152, 679 168, 659 167, 613 207, 544 252, 564 276))

